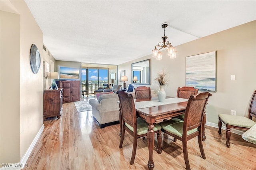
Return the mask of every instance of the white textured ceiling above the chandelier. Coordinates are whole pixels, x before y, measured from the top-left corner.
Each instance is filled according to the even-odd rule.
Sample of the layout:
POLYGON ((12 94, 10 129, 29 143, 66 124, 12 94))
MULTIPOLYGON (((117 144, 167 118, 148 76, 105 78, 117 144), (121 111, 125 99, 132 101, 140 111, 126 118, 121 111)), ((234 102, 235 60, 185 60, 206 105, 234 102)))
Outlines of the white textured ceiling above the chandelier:
POLYGON ((256 1, 26 0, 56 60, 121 64, 256 20, 256 1))

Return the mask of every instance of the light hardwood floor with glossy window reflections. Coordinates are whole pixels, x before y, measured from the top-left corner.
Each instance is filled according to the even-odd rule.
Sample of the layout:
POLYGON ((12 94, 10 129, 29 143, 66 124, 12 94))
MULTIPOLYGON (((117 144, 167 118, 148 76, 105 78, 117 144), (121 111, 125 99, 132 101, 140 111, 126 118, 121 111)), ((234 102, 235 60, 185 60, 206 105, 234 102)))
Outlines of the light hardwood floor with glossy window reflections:
MULTIPOLYGON (((119 124, 100 129, 92 118, 92 111, 77 112, 74 103, 63 104, 61 118, 48 118, 44 131, 28 158, 24 170, 125 170, 148 169, 147 138, 138 139, 136 157, 132 156, 132 136, 125 134, 120 149, 119 124)), ((225 145, 225 131, 206 126, 203 142, 206 159, 201 158, 197 138, 188 141, 188 158, 194 170, 256 170, 256 145, 233 134, 230 148, 225 145)), ((162 133, 162 153, 156 152, 155 170, 186 169, 182 142, 173 142, 162 133)))

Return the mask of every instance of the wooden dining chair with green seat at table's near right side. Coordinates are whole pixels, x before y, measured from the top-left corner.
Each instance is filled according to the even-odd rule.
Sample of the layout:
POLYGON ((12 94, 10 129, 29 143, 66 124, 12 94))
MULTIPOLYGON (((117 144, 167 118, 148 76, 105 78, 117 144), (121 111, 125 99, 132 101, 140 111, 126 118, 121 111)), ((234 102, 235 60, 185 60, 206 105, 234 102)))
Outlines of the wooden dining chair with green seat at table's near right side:
POLYGON ((174 118, 169 121, 159 123, 164 133, 182 141, 183 155, 187 170, 190 170, 188 161, 188 140, 197 136, 202 158, 206 158, 202 144, 202 117, 208 98, 211 95, 212 94, 209 92, 200 93, 198 95, 191 95, 188 99, 184 121, 178 118, 174 118))

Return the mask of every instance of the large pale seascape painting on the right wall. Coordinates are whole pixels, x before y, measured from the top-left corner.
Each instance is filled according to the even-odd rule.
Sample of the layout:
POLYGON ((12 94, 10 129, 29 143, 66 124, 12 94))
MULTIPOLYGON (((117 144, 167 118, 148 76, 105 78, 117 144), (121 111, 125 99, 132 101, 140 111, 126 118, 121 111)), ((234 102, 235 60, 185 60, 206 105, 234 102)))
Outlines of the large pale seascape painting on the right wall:
POLYGON ((186 57, 186 86, 216 92, 216 51, 186 57))

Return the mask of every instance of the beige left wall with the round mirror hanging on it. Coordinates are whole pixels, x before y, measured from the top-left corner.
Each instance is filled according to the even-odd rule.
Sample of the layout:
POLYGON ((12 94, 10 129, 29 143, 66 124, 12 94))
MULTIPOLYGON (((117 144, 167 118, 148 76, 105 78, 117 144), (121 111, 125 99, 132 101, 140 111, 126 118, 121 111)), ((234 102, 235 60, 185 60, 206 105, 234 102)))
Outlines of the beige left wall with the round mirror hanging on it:
POLYGON ((8 5, 19 14, 1 7, 0 162, 17 163, 43 125, 43 34, 24 1, 8 5), (33 43, 41 54, 37 74, 30 68, 33 43))

